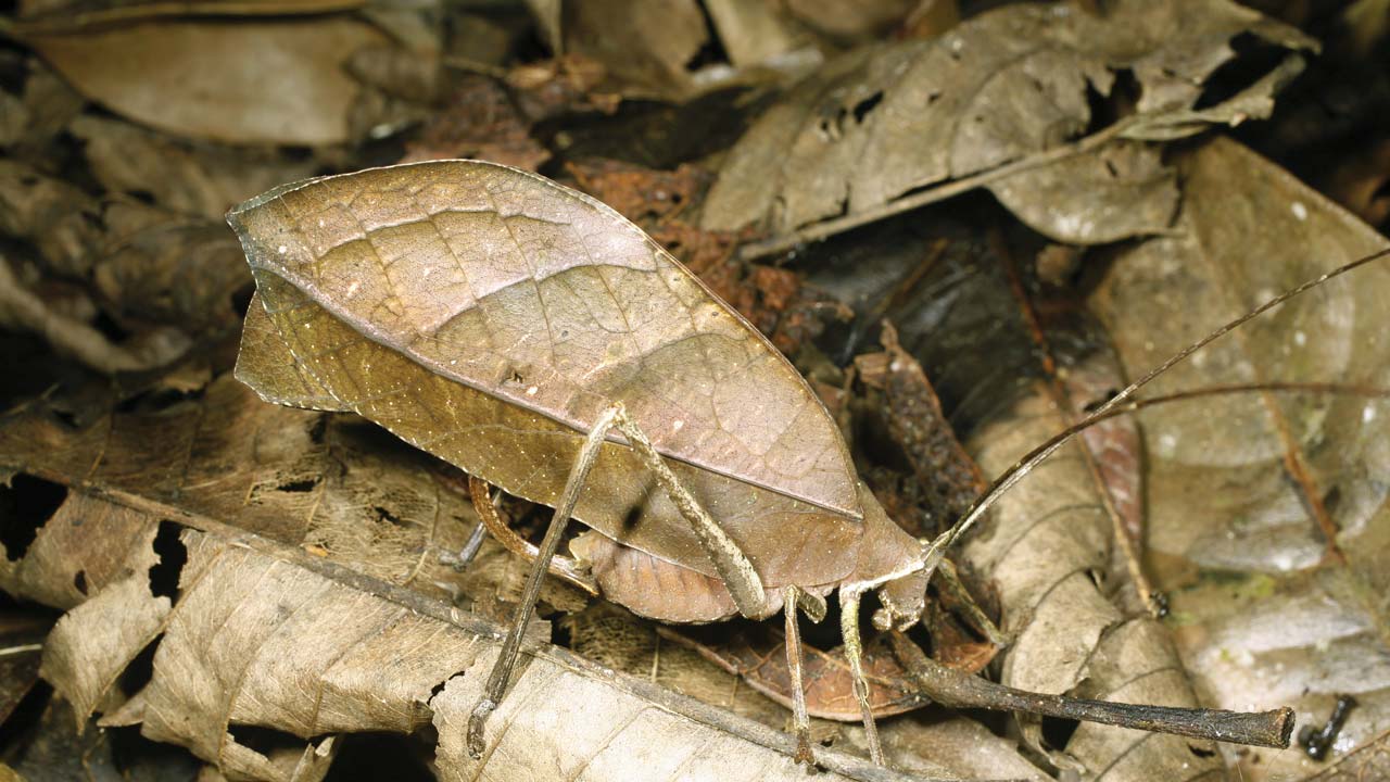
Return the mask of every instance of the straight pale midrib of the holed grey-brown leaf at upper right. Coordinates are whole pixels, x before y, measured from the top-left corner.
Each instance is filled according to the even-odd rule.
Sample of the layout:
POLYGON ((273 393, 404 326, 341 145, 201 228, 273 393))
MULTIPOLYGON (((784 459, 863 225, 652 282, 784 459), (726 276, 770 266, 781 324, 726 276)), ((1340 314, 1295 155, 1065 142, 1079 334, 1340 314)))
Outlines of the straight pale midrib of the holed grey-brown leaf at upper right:
POLYGON ((998 168, 990 168, 988 171, 980 171, 979 174, 972 174, 959 179, 952 179, 942 185, 934 188, 927 188, 924 191, 902 196, 897 200, 890 200, 885 205, 876 206, 873 209, 866 209, 863 212, 856 212, 853 214, 847 214, 844 217, 835 217, 834 220, 823 220, 820 223, 812 223, 805 228, 798 228, 790 234, 783 234, 780 237, 773 237, 770 239, 763 239, 760 242, 752 242, 744 245, 738 249, 739 260, 755 260, 759 257, 766 257, 770 255, 777 255, 787 252, 796 245, 803 245, 806 242, 819 242, 834 237, 835 234, 842 234, 851 228, 858 228, 860 225, 867 225, 869 223, 876 223, 885 217, 892 217, 894 214, 902 214, 903 212, 912 212, 919 206, 926 206, 929 203, 935 203, 938 200, 945 200, 948 198, 955 198, 960 193, 973 191, 981 185, 1020 174, 1023 171, 1031 171, 1033 168, 1041 168, 1042 166, 1051 166, 1059 160, 1066 160, 1068 157, 1074 157, 1077 154, 1086 154, 1093 149, 1097 149, 1116 138, 1125 135, 1131 127, 1144 120, 1143 115, 1126 117, 1111 127, 1097 131, 1088 136, 1076 139, 1074 142, 1065 143, 1062 146, 1055 146, 1047 152, 1040 152, 1037 154, 1030 154, 1027 157, 1020 157, 1012 163, 1005 163, 998 168))

